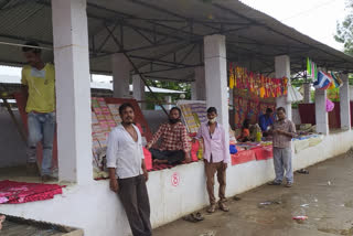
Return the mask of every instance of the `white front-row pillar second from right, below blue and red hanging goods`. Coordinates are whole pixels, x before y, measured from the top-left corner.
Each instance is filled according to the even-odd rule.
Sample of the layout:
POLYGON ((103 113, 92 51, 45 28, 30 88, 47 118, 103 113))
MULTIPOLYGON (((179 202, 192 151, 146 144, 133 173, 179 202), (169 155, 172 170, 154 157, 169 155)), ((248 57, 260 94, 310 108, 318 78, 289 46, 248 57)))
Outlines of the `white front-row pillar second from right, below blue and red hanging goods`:
POLYGON ((317 132, 329 135, 329 115, 327 112, 327 90, 315 89, 317 132))

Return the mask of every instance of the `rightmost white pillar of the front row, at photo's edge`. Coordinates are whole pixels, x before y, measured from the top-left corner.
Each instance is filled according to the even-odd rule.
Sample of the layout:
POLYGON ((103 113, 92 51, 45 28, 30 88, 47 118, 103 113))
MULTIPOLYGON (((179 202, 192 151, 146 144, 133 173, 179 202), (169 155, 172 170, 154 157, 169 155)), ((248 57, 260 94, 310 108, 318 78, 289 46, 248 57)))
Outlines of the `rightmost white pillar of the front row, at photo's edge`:
POLYGON ((340 88, 341 129, 351 129, 350 83, 347 74, 342 74, 343 86, 340 88))

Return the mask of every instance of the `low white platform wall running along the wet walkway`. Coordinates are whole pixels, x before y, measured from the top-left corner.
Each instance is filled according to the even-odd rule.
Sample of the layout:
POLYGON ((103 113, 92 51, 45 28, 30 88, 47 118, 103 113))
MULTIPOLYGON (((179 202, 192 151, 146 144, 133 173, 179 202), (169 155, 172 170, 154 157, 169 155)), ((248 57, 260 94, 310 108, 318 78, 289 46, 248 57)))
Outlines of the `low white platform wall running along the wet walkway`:
MULTIPOLYGON (((293 158, 293 170, 344 153, 352 143, 352 131, 327 136, 320 144, 297 153, 293 158)), ((233 196, 248 191, 272 180, 274 176, 272 160, 229 167, 226 195, 233 196)), ((148 191, 153 227, 200 210, 208 204, 203 162, 151 172, 148 191), (174 173, 180 176, 178 186, 172 185, 174 173)), ((1 205, 0 212, 84 228, 86 236, 126 236, 129 233, 121 204, 109 191, 108 181, 68 186, 63 195, 50 201, 1 205)))

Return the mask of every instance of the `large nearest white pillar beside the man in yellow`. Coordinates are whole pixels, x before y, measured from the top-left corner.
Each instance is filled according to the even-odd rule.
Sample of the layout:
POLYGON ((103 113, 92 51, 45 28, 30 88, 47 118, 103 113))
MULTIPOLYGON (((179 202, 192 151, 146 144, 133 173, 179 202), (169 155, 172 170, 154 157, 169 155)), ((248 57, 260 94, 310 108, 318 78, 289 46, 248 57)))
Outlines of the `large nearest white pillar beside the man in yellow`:
POLYGON ((52 0, 58 178, 93 181, 86 0, 52 0))

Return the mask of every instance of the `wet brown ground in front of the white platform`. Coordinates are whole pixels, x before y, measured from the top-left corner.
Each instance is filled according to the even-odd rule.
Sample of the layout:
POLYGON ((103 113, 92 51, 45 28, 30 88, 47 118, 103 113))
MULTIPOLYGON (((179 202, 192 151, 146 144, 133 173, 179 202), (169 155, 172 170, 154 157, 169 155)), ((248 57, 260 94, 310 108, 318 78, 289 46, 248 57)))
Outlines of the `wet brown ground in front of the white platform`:
MULTIPOLYGON (((308 157, 310 158, 310 157, 308 157)), ((291 189, 263 185, 228 200, 229 213, 201 213, 205 219, 179 219, 154 236, 329 236, 353 235, 353 155, 341 155, 295 175, 291 189), (268 204, 268 205, 266 205, 268 204), (293 216, 308 216, 298 222, 293 216)), ((256 174, 256 173, 254 173, 256 174)))

